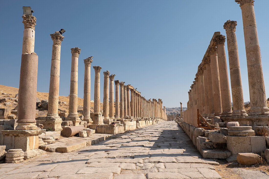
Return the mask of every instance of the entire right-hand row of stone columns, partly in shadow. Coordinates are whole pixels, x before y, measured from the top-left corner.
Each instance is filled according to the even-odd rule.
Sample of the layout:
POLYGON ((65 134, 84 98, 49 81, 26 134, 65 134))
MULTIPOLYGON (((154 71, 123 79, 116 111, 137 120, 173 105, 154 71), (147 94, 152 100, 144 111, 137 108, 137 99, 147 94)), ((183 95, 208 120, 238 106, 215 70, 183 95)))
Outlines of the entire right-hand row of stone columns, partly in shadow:
MULTIPOLYGON (((249 80, 250 110, 248 115, 268 115, 260 47, 257 35, 253 0, 235 0, 242 10, 249 80)), ((242 81, 236 41, 236 21, 224 23, 229 56, 233 110, 231 105, 228 69, 225 54, 225 36, 219 32, 213 36, 195 81, 189 93, 188 108, 197 105, 205 117, 247 116, 244 109, 242 81)), ((264 116, 266 117, 266 116, 264 116)))

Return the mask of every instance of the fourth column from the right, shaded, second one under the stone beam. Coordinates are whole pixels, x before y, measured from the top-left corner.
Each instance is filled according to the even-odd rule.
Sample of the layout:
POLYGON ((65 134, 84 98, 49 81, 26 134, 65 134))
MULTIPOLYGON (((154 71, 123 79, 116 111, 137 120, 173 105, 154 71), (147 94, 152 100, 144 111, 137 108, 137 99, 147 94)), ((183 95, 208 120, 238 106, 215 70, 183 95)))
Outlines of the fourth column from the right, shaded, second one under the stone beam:
POLYGON ((211 62, 211 74, 212 74, 212 89, 213 89, 213 99, 214 99, 214 115, 221 116, 222 106, 221 106, 221 91, 220 91, 220 77, 218 70, 218 57, 217 48, 212 47, 209 49, 210 62, 211 62))

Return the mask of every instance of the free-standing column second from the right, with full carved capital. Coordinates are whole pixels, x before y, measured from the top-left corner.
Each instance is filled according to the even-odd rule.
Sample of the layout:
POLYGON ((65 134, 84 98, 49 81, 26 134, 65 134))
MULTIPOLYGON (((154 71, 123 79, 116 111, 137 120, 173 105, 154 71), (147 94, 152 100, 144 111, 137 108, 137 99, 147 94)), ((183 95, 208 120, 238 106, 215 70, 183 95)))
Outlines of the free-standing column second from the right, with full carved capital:
POLYGON ((230 79, 233 99, 232 116, 247 116, 244 106, 238 47, 235 35, 236 25, 236 21, 227 20, 223 26, 223 28, 226 30, 227 48, 229 55, 230 79))

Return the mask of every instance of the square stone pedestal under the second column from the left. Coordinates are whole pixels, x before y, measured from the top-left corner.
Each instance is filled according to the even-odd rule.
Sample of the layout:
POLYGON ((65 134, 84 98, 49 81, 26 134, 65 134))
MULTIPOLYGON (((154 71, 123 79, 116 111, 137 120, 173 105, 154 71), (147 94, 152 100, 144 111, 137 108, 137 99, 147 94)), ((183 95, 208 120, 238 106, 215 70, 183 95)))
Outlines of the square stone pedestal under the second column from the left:
POLYGON ((52 131, 61 131, 63 130, 62 128, 62 118, 59 116, 55 116, 55 117, 50 117, 47 116, 46 120, 43 121, 43 129, 49 129, 52 131))

